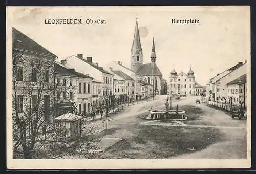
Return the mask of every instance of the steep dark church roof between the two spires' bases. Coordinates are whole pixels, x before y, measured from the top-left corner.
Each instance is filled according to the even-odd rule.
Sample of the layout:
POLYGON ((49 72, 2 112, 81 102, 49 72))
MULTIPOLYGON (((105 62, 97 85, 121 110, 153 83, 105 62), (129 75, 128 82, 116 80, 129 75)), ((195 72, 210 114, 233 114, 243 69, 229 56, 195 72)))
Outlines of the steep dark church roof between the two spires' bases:
POLYGON ((136 73, 140 74, 140 75, 162 76, 162 73, 159 70, 159 68, 157 67, 155 62, 150 62, 150 63, 143 64, 142 66, 140 66, 138 68, 136 73))

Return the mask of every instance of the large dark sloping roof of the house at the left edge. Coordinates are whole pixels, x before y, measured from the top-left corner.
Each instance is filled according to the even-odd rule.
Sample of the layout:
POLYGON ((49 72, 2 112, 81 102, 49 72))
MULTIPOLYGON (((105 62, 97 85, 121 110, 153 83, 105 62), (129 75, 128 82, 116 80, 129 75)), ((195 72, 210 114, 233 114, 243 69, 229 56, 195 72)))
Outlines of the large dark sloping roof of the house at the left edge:
POLYGON ((30 51, 34 53, 41 53, 41 54, 57 57, 56 55, 54 55, 44 47, 37 44, 37 42, 35 42, 34 40, 29 38, 22 32, 15 29, 14 27, 12 28, 12 39, 13 39, 12 44, 14 49, 30 51))

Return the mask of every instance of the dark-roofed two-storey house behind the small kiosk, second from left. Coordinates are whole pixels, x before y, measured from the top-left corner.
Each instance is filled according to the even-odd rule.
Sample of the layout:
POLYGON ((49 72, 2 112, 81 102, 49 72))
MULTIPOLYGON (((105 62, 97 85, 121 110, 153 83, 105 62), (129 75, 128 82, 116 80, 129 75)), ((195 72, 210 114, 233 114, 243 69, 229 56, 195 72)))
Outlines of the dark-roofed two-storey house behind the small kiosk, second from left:
POLYGON ((56 83, 56 115, 74 112, 90 112, 92 103, 92 77, 68 69, 61 64, 54 64, 56 83))

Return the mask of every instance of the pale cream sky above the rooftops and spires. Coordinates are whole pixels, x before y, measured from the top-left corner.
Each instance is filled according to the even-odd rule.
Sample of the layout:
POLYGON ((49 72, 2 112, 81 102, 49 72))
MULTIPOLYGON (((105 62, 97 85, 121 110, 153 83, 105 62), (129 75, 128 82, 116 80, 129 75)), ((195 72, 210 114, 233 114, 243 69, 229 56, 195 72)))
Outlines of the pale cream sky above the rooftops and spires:
POLYGON ((205 85, 209 78, 240 61, 250 59, 248 9, 31 9, 20 8, 13 12, 13 26, 57 55, 57 61, 73 54, 83 54, 84 57, 92 56, 93 62, 98 62, 102 67, 114 60, 130 68, 136 17, 139 28, 148 30, 148 33, 141 33, 140 38, 143 61, 151 61, 154 36, 156 63, 163 78, 168 81, 170 71, 174 68, 177 72, 187 73, 191 66, 196 81, 205 85), (45 19, 53 18, 77 18, 82 19, 83 24, 44 24, 45 19), (98 18, 105 19, 106 24, 86 24, 86 19, 98 18), (199 24, 171 24, 173 18, 197 19, 199 24))

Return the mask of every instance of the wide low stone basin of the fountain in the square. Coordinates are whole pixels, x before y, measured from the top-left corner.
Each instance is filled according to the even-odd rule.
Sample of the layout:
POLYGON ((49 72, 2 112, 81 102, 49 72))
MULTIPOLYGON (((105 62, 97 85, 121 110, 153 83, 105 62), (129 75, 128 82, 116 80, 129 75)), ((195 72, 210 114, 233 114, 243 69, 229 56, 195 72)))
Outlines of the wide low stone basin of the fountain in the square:
POLYGON ((185 115, 184 110, 169 110, 166 112, 165 110, 152 110, 148 112, 147 119, 150 120, 186 120, 187 117, 185 115))

